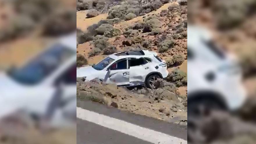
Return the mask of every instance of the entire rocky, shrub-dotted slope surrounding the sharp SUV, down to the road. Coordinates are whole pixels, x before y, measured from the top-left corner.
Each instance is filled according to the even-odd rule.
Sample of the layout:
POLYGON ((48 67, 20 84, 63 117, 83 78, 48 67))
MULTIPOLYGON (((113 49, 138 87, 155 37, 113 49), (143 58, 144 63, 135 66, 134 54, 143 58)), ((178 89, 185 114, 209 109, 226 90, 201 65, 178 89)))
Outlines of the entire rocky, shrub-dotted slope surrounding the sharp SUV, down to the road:
POLYGON ((78 11, 77 55, 79 66, 86 66, 118 51, 156 51, 168 63, 166 81, 159 81, 161 87, 151 90, 117 87, 97 79, 78 80, 77 98, 186 125, 187 6, 166 1, 151 7, 155 2, 122 2, 109 8, 109 13, 91 18, 86 18, 88 10, 78 11), (147 5, 135 7, 131 3, 147 5))

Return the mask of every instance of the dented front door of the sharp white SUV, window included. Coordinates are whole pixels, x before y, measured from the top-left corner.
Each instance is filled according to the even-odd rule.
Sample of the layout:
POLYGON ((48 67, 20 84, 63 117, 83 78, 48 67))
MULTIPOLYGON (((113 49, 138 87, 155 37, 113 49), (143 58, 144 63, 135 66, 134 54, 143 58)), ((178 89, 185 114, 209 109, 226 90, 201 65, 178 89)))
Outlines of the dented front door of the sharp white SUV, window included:
POLYGON ((129 85, 129 77, 128 60, 127 58, 121 59, 109 66, 106 74, 106 83, 114 83, 118 86, 129 85))

